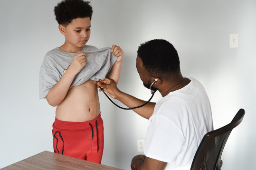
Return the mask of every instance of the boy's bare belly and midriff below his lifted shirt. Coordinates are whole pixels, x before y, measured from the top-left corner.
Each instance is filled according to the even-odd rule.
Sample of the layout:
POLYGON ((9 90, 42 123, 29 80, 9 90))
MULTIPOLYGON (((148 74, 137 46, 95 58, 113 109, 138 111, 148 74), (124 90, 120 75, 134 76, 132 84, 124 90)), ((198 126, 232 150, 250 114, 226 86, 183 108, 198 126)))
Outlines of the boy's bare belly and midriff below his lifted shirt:
POLYGON ((99 96, 93 80, 71 87, 56 109, 56 118, 62 121, 85 122, 99 114, 99 96))

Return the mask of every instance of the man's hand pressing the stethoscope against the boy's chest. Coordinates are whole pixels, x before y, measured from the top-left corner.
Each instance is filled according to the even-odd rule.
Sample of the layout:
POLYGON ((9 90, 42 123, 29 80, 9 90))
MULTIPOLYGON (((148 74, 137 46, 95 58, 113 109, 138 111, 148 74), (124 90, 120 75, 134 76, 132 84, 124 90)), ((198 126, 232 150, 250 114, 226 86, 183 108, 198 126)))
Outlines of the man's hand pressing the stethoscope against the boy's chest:
MULTIPOLYGON (((107 94, 114 99, 116 99, 116 94, 120 93, 120 90, 117 88, 113 79, 104 78, 103 80, 100 80, 97 85, 103 88, 104 92, 107 92, 107 94)), ((99 91, 101 91, 101 89, 99 91)))

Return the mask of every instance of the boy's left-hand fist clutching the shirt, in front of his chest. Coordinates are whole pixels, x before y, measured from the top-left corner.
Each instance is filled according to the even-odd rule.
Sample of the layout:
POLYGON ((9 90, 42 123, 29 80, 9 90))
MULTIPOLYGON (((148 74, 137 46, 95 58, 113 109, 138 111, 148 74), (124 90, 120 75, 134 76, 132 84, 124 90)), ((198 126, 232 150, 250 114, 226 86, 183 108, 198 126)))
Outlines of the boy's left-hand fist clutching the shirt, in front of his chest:
POLYGON ((76 54, 67 70, 73 71, 75 74, 79 73, 86 65, 85 57, 88 57, 88 54, 84 52, 76 54))

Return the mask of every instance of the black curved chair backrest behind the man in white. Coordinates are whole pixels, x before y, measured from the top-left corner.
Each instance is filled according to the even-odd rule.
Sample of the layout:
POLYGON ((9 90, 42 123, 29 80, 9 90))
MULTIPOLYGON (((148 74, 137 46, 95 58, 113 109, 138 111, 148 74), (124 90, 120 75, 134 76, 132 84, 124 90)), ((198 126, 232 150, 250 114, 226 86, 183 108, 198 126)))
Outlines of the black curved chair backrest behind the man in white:
POLYGON ((245 110, 238 110, 234 119, 226 126, 208 132, 199 144, 190 170, 220 170, 220 160, 224 146, 232 129, 243 120, 245 110))

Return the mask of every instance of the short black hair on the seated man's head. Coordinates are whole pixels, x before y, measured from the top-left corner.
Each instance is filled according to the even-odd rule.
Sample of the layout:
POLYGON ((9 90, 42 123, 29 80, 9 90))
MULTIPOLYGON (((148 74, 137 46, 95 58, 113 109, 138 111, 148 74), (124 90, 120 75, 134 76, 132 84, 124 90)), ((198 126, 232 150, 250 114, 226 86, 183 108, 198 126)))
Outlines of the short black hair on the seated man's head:
POLYGON ((152 76, 168 77, 180 72, 180 59, 173 45, 161 39, 142 43, 137 51, 152 76))

